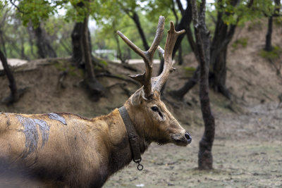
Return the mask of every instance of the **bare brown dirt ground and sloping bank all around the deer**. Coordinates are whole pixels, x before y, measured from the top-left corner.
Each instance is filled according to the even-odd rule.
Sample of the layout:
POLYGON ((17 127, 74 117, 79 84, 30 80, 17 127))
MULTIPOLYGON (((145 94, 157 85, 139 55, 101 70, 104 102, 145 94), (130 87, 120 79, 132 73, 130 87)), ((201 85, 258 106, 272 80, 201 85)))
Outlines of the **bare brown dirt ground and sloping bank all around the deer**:
MULTIPOLYGON (((192 144, 187 147, 152 144, 142 155, 144 170, 138 171, 135 163, 130 163, 104 187, 282 187, 282 104, 278 106, 282 79, 269 62, 259 56, 265 33, 265 27, 259 24, 246 25, 235 33, 233 43, 247 38, 247 46, 229 47, 226 85, 232 92, 232 101, 210 90, 216 118, 214 170, 197 170, 198 144, 204 127, 196 86, 183 101, 169 95, 163 99, 192 134, 192 144)), ((274 46, 282 44, 281 33, 281 27, 276 26, 274 46)), ((107 68, 123 78, 142 73, 144 65, 132 66, 137 72, 116 63, 109 63, 107 68)), ((184 67, 195 66, 194 56, 186 56, 184 67)), ((180 88, 191 76, 188 69, 178 65, 176 68, 166 91, 180 88)), ((154 71, 157 72, 157 66, 154 71)), ((0 112, 72 112, 95 117, 122 106, 128 95, 138 88, 126 80, 99 77, 106 94, 94 101, 83 87, 81 71, 71 67, 68 58, 28 62, 17 68, 15 75, 18 87, 27 88, 27 92, 12 106, 0 104, 0 112), (68 75, 62 79, 63 71, 68 71, 68 75)), ((0 73, 0 99, 8 94, 8 81, 0 73)), ((23 177, 0 177, 0 187, 51 186, 48 182, 23 177)))

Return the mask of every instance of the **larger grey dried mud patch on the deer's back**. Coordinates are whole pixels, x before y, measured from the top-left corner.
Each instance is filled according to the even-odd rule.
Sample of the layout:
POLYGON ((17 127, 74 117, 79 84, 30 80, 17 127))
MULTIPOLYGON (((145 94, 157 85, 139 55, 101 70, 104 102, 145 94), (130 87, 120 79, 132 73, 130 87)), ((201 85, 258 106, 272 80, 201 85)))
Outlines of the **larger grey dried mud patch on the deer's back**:
POLYGON ((50 127, 44 120, 25 118, 23 116, 17 115, 18 120, 25 128, 23 132, 25 133, 25 151, 23 151, 23 158, 28 156, 30 153, 37 149, 37 144, 39 140, 39 133, 37 131, 37 125, 42 137, 42 147, 49 139, 50 127))

